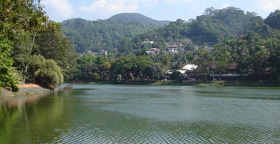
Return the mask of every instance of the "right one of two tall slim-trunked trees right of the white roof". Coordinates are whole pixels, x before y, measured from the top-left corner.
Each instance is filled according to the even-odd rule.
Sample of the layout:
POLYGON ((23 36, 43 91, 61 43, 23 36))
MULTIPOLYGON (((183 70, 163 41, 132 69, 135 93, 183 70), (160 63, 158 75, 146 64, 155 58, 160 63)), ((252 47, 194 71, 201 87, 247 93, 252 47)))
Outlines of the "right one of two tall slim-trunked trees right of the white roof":
POLYGON ((217 65, 216 70, 219 72, 219 79, 221 80, 221 73, 225 72, 231 60, 231 56, 229 53, 231 47, 223 43, 219 43, 215 44, 213 48, 213 60, 214 64, 217 65))

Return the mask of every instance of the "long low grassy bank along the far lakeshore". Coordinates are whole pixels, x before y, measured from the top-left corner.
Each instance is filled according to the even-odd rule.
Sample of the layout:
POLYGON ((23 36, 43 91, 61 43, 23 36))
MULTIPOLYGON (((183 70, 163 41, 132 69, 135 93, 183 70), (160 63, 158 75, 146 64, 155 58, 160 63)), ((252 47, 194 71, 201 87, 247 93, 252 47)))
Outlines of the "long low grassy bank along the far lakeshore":
POLYGON ((113 83, 111 80, 84 82, 92 84, 142 84, 142 85, 194 85, 194 86, 260 86, 260 87, 280 87, 279 81, 157 81, 157 80, 118 80, 113 83))

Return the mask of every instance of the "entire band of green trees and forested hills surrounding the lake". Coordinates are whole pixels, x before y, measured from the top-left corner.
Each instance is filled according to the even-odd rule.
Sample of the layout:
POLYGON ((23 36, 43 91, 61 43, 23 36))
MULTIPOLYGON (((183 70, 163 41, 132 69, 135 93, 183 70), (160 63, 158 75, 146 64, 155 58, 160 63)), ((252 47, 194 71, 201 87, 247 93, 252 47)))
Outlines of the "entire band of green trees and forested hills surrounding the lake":
POLYGON ((205 81, 213 71, 228 73, 229 65, 242 76, 253 73, 277 80, 280 75, 279 10, 262 19, 235 7, 207 8, 196 19, 178 19, 162 27, 140 14, 97 21, 69 19, 60 25, 49 21, 40 1, 33 0, 2 2, 0 12, 0 86, 13 91, 18 91, 19 81, 33 80, 52 88, 64 80, 106 78, 182 82, 178 70, 185 64, 197 65, 193 74, 205 81), (192 43, 179 44, 183 39, 192 43), (143 41, 154 43, 142 45, 143 41), (170 41, 177 43, 178 53, 165 53, 170 41), (200 46, 197 51, 195 45, 200 46), (204 51, 204 45, 213 45, 213 50, 204 51), (161 51, 148 54, 153 47, 161 51), (76 53, 100 49, 108 50, 108 56, 76 53), (170 77, 163 74, 167 70, 170 77))

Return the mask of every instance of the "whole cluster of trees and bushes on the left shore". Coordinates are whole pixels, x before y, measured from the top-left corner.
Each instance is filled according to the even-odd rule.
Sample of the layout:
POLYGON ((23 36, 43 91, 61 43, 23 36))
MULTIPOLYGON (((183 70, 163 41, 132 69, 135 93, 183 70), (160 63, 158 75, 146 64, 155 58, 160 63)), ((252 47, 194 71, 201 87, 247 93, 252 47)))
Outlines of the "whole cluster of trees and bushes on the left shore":
MULTIPOLYGON (((75 57, 68 58, 71 43, 63 38, 61 25, 48 20, 40 1, 11 0, 0 4, 0 86, 18 91, 15 84, 32 78, 48 87, 62 84, 59 66, 65 67, 75 57), (36 61, 39 54, 42 56, 36 61)), ((67 76, 71 72, 63 71, 67 76)))

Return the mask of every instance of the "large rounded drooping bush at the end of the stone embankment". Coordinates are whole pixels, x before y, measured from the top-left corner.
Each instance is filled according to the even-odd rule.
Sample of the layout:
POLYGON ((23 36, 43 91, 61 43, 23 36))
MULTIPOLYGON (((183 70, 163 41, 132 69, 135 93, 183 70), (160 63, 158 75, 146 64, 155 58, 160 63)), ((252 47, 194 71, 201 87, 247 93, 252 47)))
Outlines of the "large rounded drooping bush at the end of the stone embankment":
POLYGON ((63 84, 61 68, 54 60, 34 55, 32 61, 31 70, 36 83, 50 88, 57 88, 63 84))

